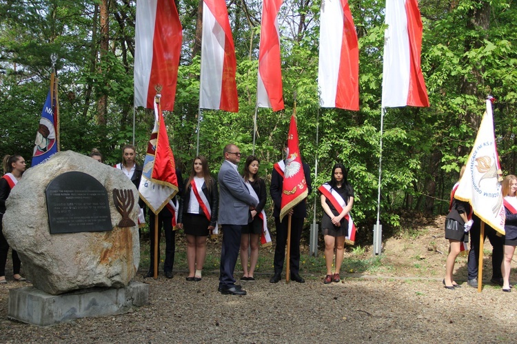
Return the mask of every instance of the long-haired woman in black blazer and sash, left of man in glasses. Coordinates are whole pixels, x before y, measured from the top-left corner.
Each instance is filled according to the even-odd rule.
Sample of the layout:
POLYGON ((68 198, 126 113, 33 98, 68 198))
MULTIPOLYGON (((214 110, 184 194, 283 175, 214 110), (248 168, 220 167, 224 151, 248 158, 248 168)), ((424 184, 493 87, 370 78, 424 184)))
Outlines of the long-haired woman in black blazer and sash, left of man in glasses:
POLYGON ((190 177, 181 194, 178 211, 178 228, 187 236, 187 281, 201 281, 205 263, 206 240, 217 226, 219 192, 210 176, 204 156, 196 156, 190 177))

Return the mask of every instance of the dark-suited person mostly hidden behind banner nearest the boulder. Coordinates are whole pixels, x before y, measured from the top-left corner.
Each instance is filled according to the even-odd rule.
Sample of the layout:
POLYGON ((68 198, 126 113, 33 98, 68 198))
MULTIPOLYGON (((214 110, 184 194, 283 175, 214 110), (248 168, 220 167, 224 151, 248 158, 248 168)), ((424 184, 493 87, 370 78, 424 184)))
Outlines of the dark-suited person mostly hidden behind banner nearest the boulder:
MULTIPOLYGON (((183 176, 181 170, 176 168, 176 177, 178 179, 178 193, 171 200, 173 205, 165 205, 165 207, 158 214, 158 265, 160 265, 160 236, 163 227, 163 234, 165 234, 165 261, 163 262, 163 273, 168 279, 172 279, 172 267, 174 267, 174 254, 176 254, 176 231, 172 225, 172 219, 176 216, 178 211, 177 197, 183 194, 183 176), (175 208, 175 209, 174 209, 175 208)), ((149 214, 149 240, 150 240, 150 265, 149 271, 144 278, 154 276, 154 222, 156 216, 153 212, 149 214)), ((174 223, 176 223, 174 221, 174 223)))

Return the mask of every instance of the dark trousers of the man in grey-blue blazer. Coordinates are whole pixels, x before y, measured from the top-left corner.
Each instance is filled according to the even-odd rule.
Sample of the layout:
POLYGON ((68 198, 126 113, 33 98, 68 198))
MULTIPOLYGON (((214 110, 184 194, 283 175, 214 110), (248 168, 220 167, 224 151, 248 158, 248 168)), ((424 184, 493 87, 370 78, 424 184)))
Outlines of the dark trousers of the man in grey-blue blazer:
POLYGON ((241 249, 242 225, 223 225, 223 245, 219 265, 219 287, 228 289, 235 286, 234 270, 241 249))

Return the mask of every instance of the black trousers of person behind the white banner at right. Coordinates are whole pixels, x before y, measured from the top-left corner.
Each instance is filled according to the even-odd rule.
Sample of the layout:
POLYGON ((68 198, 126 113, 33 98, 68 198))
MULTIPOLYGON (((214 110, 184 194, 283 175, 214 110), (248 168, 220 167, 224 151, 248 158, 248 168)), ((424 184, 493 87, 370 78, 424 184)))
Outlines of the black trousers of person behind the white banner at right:
MULTIPOLYGON (((470 229, 470 250, 467 261, 468 279, 478 278, 478 263, 479 263, 479 236, 481 233, 481 220, 478 216, 473 215, 474 225, 470 229)), ((485 223, 485 237, 492 245, 492 279, 502 279, 501 263, 503 263, 503 245, 505 244, 505 237, 498 236, 496 230, 485 223)))

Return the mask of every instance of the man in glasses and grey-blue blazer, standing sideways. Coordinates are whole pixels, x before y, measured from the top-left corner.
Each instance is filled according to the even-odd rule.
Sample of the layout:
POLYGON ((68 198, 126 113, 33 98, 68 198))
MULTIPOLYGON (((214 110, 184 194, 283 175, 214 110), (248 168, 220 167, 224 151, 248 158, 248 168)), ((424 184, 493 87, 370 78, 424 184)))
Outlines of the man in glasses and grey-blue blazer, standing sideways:
POLYGON ((235 285, 234 270, 241 247, 242 227, 247 225, 250 209, 257 205, 256 199, 248 191, 244 179, 237 172, 241 161, 241 151, 233 144, 223 150, 225 161, 219 170, 219 224, 223 226, 223 247, 219 292, 221 294, 245 295, 240 285, 235 285))

